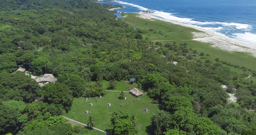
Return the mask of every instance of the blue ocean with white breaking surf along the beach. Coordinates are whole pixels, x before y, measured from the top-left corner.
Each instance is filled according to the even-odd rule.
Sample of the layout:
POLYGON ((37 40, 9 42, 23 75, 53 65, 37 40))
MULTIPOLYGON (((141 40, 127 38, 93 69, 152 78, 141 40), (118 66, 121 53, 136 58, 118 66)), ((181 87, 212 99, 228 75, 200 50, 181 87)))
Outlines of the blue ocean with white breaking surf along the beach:
POLYGON ((101 2, 136 13, 152 10, 150 15, 190 24, 256 46, 255 0, 122 0, 101 2))

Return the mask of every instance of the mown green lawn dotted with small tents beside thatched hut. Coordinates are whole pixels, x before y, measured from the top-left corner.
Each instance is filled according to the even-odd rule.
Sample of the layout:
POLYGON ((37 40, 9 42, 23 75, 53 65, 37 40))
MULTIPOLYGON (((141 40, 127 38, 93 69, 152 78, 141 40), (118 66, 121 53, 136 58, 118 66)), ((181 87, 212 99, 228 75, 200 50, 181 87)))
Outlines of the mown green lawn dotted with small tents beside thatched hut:
MULTIPOLYGON (((103 86, 107 86, 108 81, 103 81, 103 86)), ((128 91, 127 86, 136 86, 136 84, 128 84, 128 82, 118 82, 117 89, 128 91)), ((148 96, 143 95, 138 98, 134 98, 130 93, 125 92, 126 100, 118 99, 120 92, 106 92, 103 99, 98 97, 90 97, 90 101, 84 100, 83 97, 76 98, 73 101, 71 110, 65 115, 66 117, 79 121, 81 123, 87 124, 87 116, 91 115, 95 117, 95 128, 101 130, 106 130, 109 127, 111 114, 115 111, 129 112, 131 115, 137 117, 136 126, 139 129, 139 135, 147 135, 150 133, 146 132, 146 127, 151 124, 151 116, 159 110, 157 104, 149 104, 152 99, 148 96), (133 101, 134 100, 134 101, 133 101), (89 104, 94 104, 90 106, 89 104), (110 103, 109 107, 107 104, 110 103), (145 104, 143 104, 145 103, 145 104), (122 104, 122 106, 120 106, 122 104), (149 109, 149 113, 145 113, 144 109, 149 109), (86 114, 85 111, 90 113, 86 114)), ((148 130, 148 129, 147 129, 148 130)), ((105 135, 103 132, 98 132, 97 130, 91 130, 89 132, 91 135, 105 135)))

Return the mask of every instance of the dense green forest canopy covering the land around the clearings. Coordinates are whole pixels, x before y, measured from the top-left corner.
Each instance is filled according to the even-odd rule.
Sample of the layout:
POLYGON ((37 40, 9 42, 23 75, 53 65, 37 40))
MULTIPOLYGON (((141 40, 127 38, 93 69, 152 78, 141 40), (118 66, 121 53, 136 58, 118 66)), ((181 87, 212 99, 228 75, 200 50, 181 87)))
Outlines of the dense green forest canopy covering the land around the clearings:
MULTIPOLYGON (((87 128, 72 127, 61 117, 73 99, 105 95, 102 80, 132 77, 161 108, 151 117, 148 134, 256 133, 255 111, 248 111, 256 109, 256 82, 231 73, 231 64, 195 59, 204 54, 188 49, 185 42, 153 43, 140 28, 116 19, 110 5, 89 0, 0 3, 1 135, 87 135, 87 128), (57 82, 40 87, 31 74, 15 72, 18 65, 32 75, 51 73, 57 82), (87 83, 91 81, 95 84, 87 83), (236 94, 237 103, 228 104, 227 92, 236 94)), ((251 69, 236 67, 256 76, 251 69)), ((126 112, 112 117, 110 134, 138 132, 126 112), (127 131, 117 130, 121 123, 127 131)))

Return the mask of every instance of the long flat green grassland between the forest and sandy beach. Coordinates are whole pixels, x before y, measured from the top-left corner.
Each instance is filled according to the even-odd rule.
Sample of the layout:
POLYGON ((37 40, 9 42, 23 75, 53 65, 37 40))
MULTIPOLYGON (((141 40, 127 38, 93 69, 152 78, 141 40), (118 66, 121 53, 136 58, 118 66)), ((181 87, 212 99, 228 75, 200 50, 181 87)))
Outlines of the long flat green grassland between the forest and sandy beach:
MULTIPOLYGON (((124 13, 125 18, 121 18, 124 22, 128 23, 130 27, 140 28, 143 31, 143 35, 146 35, 150 40, 175 40, 177 45, 180 43, 187 43, 187 49, 192 48, 193 50, 197 50, 200 54, 203 52, 205 55, 210 54, 210 56, 204 56, 207 59, 214 61, 215 58, 219 58, 220 61, 230 62, 233 65, 244 66, 247 69, 255 69, 256 67, 256 58, 253 57, 249 53, 245 52, 229 52, 225 50, 221 50, 216 47, 212 47, 210 43, 199 42, 193 39, 193 35, 191 32, 201 32, 195 30, 193 28, 183 27, 177 24, 172 24, 169 22, 164 22, 157 19, 142 19, 137 13, 124 13), (147 25, 146 25, 147 23, 147 25), (156 31, 149 31, 149 29, 153 29, 156 31), (163 35, 158 34, 161 31, 163 35), (171 32, 169 32, 171 31, 171 32), (166 36, 166 37, 165 37, 166 36), (181 41, 186 40, 186 41, 181 41)), ((173 41, 160 41, 162 45, 166 43, 172 44, 173 41)), ((196 56, 196 58, 200 58, 201 56, 196 56)), ((240 73, 241 69, 231 68, 233 73, 240 73)))

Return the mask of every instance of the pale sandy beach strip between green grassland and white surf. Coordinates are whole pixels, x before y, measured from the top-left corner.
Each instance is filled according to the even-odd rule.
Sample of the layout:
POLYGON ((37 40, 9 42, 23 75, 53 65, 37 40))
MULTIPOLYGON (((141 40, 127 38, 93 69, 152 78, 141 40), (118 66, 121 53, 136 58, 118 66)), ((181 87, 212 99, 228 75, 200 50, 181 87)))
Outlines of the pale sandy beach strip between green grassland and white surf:
POLYGON ((195 28, 197 30, 203 31, 203 32, 193 32, 194 39, 201 42, 211 43, 212 47, 217 47, 219 49, 227 50, 227 51, 242 51, 242 52, 248 52, 251 53, 253 56, 256 57, 256 46, 250 45, 248 43, 244 43, 235 39, 228 38, 226 36, 222 36, 220 34, 217 34, 213 31, 208 31, 200 27, 192 26, 189 24, 179 23, 175 21, 165 20, 158 18, 156 16, 139 13, 139 17, 143 19, 158 19, 165 22, 170 22, 173 24, 178 24, 185 27, 195 28))

